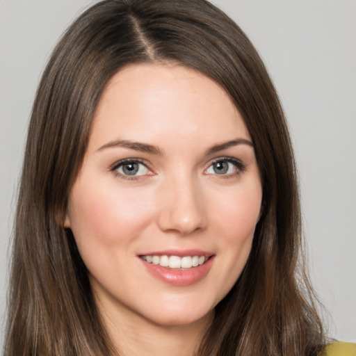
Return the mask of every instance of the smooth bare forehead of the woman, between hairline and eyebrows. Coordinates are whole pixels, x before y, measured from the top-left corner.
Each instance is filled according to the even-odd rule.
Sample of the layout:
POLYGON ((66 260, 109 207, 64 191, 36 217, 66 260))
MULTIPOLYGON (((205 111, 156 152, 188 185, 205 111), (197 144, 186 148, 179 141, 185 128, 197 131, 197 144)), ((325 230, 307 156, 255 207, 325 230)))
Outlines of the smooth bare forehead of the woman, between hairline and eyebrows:
POLYGON ((129 140, 250 139, 243 118, 218 83, 181 65, 128 65, 108 82, 92 122, 89 145, 129 140))

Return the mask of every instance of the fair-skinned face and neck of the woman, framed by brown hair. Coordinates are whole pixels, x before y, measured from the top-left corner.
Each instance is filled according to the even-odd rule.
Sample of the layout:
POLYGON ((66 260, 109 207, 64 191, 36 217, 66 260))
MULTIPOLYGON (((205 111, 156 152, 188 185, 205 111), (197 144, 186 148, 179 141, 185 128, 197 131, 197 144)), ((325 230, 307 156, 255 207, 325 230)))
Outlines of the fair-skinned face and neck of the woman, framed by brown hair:
POLYGON ((113 76, 65 226, 120 355, 193 354, 245 266, 261 197, 252 140, 217 83, 172 64, 113 76))

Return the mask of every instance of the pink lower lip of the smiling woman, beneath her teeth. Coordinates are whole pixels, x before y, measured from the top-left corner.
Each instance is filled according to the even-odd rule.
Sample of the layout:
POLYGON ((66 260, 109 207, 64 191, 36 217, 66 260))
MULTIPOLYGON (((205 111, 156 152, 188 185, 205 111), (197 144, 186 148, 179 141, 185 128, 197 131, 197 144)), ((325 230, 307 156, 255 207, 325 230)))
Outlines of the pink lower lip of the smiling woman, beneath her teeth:
POLYGON ((188 270, 175 270, 156 264, 149 264, 143 259, 140 259, 140 261, 143 262, 148 272, 159 280, 172 286, 190 286, 202 280, 209 273, 211 266, 213 266, 214 256, 211 256, 204 264, 188 270))

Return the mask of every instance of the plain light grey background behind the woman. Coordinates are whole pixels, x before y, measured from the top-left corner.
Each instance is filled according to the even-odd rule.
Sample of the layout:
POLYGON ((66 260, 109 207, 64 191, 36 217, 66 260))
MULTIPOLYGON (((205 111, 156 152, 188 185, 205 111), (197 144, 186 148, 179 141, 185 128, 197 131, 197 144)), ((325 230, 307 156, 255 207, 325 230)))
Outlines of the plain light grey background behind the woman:
MULTIPOLYGON (((31 102, 56 39, 95 1, 0 0, 0 318, 31 102)), ((330 336, 356 341, 356 1, 215 0, 259 49, 300 170, 312 280, 330 336)), ((1 325, 0 342, 3 325, 1 325)))

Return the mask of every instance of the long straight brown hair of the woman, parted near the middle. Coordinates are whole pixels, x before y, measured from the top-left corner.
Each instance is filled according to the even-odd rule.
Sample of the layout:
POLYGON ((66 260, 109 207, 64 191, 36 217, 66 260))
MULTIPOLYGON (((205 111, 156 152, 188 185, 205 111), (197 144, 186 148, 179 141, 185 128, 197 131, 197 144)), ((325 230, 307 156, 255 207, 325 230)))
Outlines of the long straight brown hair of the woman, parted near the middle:
POLYGON ((129 63, 168 62, 225 89, 248 127, 263 181, 248 263, 217 305, 197 355, 311 356, 323 348, 300 254, 291 140, 257 51, 207 1, 107 0, 65 32, 33 105, 13 237, 6 356, 115 354, 63 219, 108 80, 129 63))

